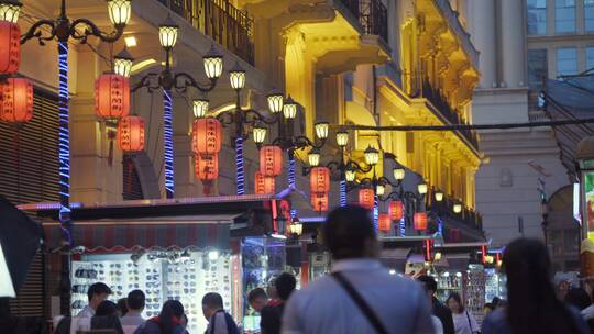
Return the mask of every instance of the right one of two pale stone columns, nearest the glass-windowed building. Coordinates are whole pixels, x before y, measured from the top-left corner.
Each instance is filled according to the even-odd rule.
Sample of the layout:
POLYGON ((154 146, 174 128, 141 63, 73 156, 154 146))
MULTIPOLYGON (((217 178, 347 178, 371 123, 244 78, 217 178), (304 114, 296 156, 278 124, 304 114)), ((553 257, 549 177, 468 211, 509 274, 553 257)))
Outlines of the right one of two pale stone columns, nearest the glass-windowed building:
POLYGON ((502 0, 503 78, 506 87, 526 85, 524 1, 502 0))

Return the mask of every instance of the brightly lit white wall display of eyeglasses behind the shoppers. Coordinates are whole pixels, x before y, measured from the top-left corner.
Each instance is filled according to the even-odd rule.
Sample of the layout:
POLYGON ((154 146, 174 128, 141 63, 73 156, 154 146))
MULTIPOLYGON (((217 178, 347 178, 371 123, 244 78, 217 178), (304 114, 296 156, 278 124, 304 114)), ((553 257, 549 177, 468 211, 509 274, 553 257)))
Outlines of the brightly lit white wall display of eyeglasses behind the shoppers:
POLYGON ((220 293, 230 312, 233 299, 239 298, 233 293, 231 253, 218 249, 82 255, 73 261, 72 272, 73 314, 87 304, 88 287, 101 281, 113 291, 110 300, 114 302, 132 290, 142 290, 146 319, 158 315, 166 300, 179 300, 190 333, 201 333, 208 325, 201 305, 207 292, 220 293))

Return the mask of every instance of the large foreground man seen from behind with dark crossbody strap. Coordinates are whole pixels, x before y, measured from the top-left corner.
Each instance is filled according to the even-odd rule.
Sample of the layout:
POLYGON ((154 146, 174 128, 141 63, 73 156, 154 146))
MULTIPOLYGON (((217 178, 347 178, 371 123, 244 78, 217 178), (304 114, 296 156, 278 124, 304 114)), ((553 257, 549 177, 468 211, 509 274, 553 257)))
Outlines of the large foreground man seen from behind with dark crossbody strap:
POLYGON ((422 287, 389 275, 377 259, 370 211, 355 205, 333 210, 321 240, 334 260, 332 274, 293 293, 282 333, 433 333, 422 287))

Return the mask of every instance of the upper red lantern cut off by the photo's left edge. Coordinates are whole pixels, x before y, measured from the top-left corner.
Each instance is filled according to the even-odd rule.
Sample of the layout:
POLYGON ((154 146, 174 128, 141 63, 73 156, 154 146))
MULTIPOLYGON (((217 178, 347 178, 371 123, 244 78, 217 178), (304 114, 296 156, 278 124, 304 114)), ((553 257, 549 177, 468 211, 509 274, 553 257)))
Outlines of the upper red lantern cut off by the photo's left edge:
POLYGON ((21 29, 19 24, 0 21, 0 74, 13 74, 21 64, 21 29))

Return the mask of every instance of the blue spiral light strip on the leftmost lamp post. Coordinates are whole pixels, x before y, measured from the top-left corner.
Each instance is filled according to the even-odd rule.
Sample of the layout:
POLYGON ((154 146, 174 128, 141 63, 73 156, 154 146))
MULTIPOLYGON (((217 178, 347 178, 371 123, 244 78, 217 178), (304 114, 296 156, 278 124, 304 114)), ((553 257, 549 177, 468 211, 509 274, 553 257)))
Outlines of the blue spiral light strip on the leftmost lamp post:
POLYGON ((58 158, 59 158, 59 222, 64 233, 64 241, 73 244, 70 234, 70 132, 69 124, 69 96, 68 96, 68 43, 58 43, 58 158))

